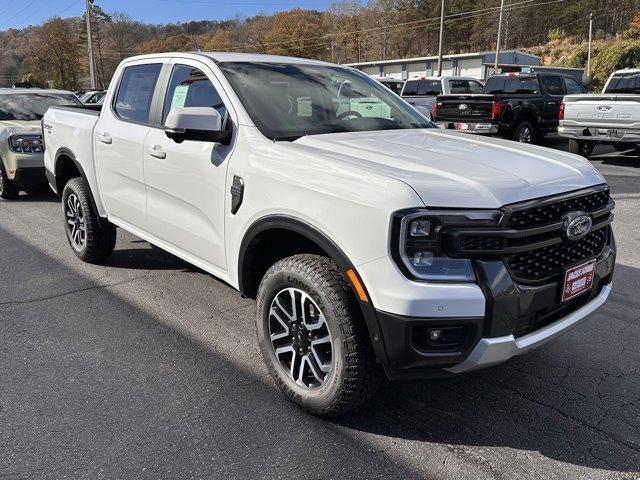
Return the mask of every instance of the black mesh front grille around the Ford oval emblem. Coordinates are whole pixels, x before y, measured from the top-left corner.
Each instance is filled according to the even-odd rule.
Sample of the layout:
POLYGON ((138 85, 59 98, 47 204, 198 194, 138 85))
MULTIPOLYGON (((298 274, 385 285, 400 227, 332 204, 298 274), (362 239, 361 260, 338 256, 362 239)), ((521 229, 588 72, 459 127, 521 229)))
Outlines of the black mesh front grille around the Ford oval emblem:
POLYGON ((443 233, 443 246, 454 257, 499 258, 519 283, 552 281, 568 266, 604 251, 613 206, 606 185, 507 205, 497 228, 451 229, 443 233), (563 218, 575 211, 589 214, 593 227, 584 238, 571 241, 564 236, 563 218))

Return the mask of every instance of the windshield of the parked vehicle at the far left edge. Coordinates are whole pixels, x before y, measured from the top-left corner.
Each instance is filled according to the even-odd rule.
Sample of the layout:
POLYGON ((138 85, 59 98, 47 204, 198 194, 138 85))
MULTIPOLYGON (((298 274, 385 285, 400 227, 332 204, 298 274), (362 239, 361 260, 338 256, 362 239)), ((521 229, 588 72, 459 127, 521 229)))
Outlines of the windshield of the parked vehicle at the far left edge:
POLYGON ((80 105, 80 101, 71 93, 0 94, 0 120, 40 120, 54 105, 80 105))

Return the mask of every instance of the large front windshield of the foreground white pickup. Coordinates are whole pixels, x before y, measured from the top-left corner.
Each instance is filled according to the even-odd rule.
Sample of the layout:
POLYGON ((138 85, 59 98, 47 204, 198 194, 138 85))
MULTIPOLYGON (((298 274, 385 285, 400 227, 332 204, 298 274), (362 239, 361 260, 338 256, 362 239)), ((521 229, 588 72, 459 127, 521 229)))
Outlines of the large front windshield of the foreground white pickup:
POLYGON ((388 88, 351 69, 254 62, 219 65, 253 122, 272 140, 433 128, 388 88))

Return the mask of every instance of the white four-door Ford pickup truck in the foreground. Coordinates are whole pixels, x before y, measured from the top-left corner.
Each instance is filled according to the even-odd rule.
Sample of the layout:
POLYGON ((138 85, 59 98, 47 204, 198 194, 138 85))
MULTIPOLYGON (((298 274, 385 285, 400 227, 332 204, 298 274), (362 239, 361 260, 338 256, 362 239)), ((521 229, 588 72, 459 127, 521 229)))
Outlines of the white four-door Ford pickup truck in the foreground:
POLYGON ((257 298, 269 372, 316 414, 360 405, 382 371, 527 352, 611 291, 613 201, 587 160, 444 132, 352 69, 134 57, 102 110, 50 108, 43 128, 76 255, 107 260, 118 226, 257 298), (338 115, 344 82, 386 108, 338 115))

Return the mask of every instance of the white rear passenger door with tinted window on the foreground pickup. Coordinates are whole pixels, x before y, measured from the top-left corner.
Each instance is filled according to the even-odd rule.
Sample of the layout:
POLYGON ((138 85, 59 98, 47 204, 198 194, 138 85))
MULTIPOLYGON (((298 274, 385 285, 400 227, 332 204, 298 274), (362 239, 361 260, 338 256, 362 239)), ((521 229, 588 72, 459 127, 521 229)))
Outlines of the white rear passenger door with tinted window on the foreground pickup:
POLYGON ((161 70, 157 60, 126 66, 94 130, 96 169, 107 212, 142 230, 147 224, 142 148, 161 70))

